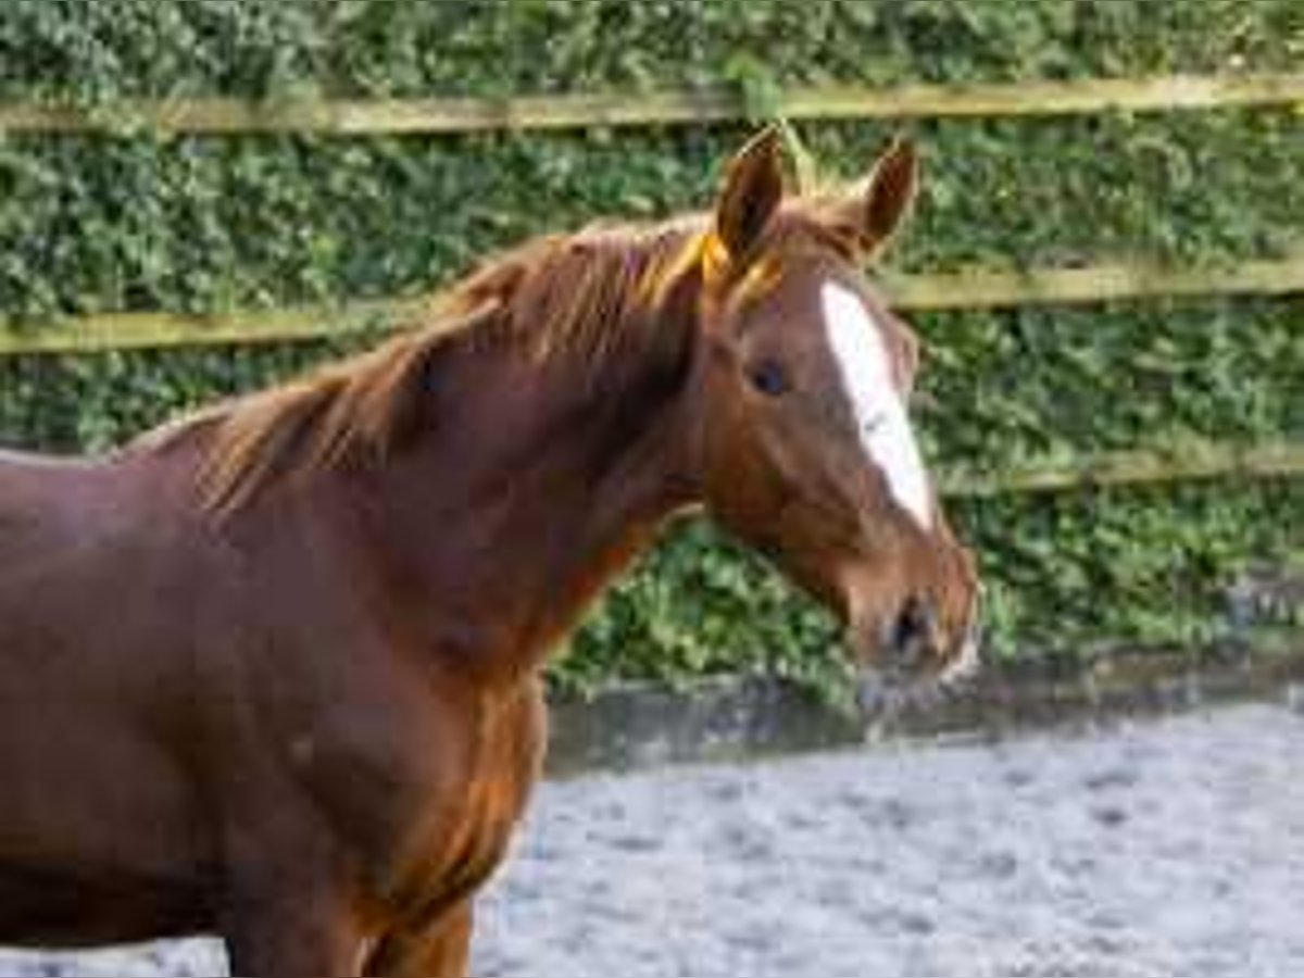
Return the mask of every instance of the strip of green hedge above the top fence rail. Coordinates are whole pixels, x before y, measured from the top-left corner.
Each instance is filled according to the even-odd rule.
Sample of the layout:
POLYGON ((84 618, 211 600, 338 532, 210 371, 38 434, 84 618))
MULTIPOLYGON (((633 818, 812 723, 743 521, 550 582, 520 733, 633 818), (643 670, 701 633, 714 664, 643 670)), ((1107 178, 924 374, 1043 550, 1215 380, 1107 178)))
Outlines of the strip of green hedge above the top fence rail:
POLYGON ((1294 0, 9 0, 0 93, 502 95, 1265 70, 1294 0))

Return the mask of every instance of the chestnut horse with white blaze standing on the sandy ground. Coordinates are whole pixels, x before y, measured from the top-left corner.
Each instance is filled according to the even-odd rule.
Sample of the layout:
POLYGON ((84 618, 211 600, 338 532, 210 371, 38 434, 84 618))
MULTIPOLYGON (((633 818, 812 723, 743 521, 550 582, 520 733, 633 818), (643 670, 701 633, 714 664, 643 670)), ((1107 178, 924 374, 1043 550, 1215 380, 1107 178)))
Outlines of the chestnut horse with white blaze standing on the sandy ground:
POLYGON ((540 669, 703 509, 911 689, 977 583, 858 271, 906 142, 786 197, 526 244, 413 329, 98 459, 0 456, 0 943, 220 935, 239 974, 462 975, 539 775, 540 669))

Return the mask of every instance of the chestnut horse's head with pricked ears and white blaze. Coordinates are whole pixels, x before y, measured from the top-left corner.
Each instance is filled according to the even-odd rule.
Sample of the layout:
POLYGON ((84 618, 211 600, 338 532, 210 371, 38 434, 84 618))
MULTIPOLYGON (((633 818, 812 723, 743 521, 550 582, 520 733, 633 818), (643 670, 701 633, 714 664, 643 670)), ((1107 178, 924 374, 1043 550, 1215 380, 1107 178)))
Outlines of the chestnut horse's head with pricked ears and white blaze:
POLYGON ((908 411, 919 344, 861 270, 917 184, 896 141, 853 192, 788 198, 777 136, 752 140, 703 249, 691 379, 708 514, 838 614, 872 692, 977 665, 974 561, 908 411))

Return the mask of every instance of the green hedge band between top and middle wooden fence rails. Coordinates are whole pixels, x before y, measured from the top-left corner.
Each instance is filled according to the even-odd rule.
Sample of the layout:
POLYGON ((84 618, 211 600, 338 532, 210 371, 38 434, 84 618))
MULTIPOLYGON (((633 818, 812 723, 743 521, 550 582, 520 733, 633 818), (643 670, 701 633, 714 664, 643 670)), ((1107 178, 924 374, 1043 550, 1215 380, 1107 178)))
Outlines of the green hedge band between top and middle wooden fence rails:
MULTIPOLYGON (((1208 265, 1304 244, 1291 111, 919 128, 926 196, 897 267, 1208 265)), ((887 134, 803 132, 845 177, 887 134)), ((0 316, 424 289, 531 233, 704 206, 742 134, 0 141, 0 316)))

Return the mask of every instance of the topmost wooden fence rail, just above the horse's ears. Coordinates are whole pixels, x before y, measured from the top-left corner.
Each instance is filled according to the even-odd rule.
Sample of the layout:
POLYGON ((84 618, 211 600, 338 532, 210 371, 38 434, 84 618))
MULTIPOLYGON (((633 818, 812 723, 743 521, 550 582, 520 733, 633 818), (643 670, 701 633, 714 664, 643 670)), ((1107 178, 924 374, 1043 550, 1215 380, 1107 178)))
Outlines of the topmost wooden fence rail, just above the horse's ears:
MULTIPOLYGON (((797 87, 780 93, 763 113, 792 120, 923 119, 1282 104, 1304 104, 1304 73, 797 87)), ((0 104, 0 133, 408 136, 721 123, 755 113, 737 89, 376 100, 194 98, 85 108, 10 102, 0 104)))

